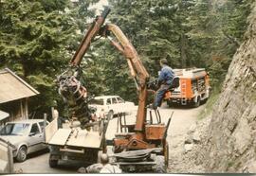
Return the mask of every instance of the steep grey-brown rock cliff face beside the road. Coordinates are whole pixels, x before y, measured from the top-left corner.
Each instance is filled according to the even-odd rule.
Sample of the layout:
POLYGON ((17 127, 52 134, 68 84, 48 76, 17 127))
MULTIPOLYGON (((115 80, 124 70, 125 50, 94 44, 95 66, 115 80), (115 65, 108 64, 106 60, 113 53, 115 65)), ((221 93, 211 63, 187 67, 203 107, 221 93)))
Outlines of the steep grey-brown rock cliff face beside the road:
POLYGON ((256 3, 248 21, 204 133, 198 160, 206 172, 256 172, 256 3))

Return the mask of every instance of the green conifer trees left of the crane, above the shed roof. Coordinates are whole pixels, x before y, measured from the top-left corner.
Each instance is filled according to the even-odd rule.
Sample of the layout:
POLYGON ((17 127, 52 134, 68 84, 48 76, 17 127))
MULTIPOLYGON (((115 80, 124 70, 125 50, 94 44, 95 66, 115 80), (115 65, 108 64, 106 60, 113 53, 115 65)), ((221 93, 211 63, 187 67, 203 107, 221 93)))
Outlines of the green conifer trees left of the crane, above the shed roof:
MULTIPOLYGON (((88 7, 91 2, 96 1, 82 5, 88 7)), ((59 99, 54 79, 82 38, 77 35, 77 22, 93 12, 80 16, 80 8, 69 0, 0 2, 1 67, 8 66, 41 93, 31 98, 31 110, 47 112, 53 100, 59 99)))

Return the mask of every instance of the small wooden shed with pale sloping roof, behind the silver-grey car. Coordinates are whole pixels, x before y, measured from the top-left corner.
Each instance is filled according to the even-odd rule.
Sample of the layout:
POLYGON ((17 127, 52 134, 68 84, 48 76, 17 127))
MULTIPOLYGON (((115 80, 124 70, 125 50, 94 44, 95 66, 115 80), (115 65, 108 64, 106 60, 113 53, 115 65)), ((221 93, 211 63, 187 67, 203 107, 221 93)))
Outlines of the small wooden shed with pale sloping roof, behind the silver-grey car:
POLYGON ((0 70, 0 125, 8 121, 27 119, 28 97, 38 94, 37 90, 9 68, 0 70))

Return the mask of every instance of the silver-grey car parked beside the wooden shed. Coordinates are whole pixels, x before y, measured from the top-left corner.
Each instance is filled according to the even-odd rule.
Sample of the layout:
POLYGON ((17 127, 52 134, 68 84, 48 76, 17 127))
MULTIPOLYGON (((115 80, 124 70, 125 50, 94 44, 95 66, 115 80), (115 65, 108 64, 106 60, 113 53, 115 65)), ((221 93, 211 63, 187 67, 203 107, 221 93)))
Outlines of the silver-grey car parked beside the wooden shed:
POLYGON ((18 162, 24 162, 28 153, 47 148, 44 144, 44 119, 8 122, 0 131, 0 137, 16 147, 13 157, 18 162))

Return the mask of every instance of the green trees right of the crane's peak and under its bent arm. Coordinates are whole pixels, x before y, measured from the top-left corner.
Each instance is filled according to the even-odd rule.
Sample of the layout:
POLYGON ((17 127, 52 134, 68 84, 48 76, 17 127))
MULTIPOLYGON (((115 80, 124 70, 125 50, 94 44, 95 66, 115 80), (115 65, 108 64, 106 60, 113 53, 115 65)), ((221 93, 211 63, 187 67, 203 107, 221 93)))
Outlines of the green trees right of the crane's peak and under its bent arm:
MULTIPOLYGON (((247 27, 249 2, 240 2, 110 0, 113 8, 108 19, 135 45, 153 78, 160 69, 159 59, 166 58, 174 68, 207 68, 211 85, 215 87, 225 78, 232 55, 247 27)), ((105 59, 101 65, 103 63, 102 72, 108 83, 103 94, 113 93, 136 100, 135 87, 131 86, 133 80, 123 73, 122 68, 128 67, 125 59, 117 55, 112 46, 104 47, 105 53, 101 49, 96 51, 105 59), (119 64, 115 64, 118 61, 119 64)))

